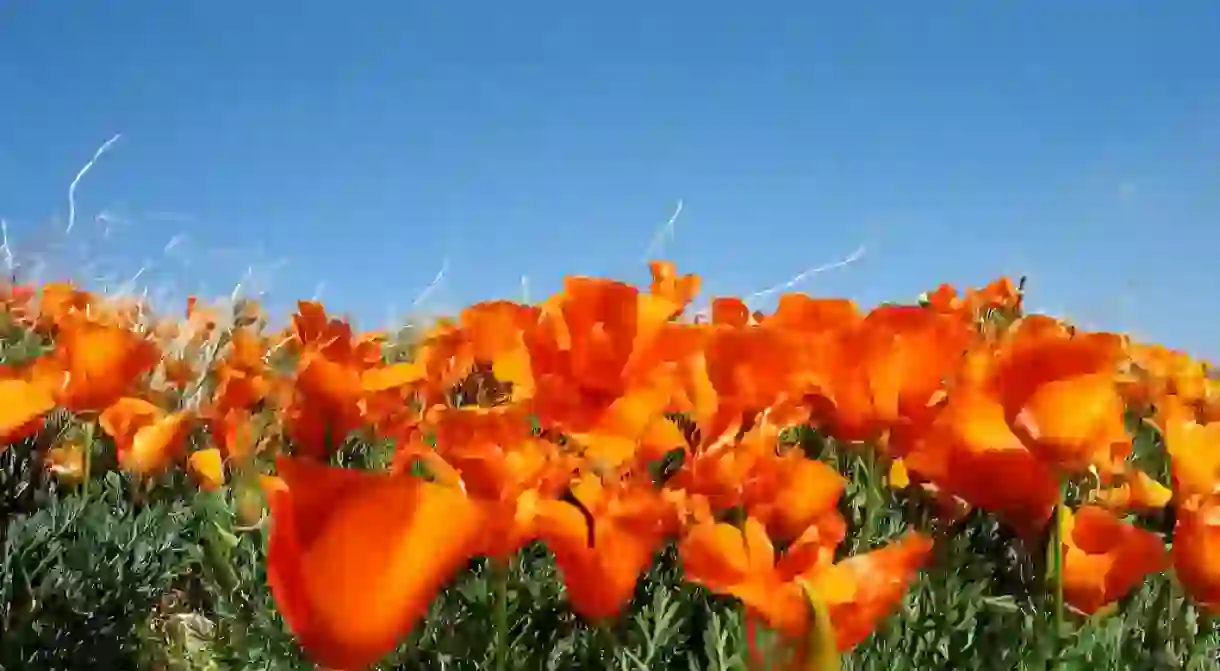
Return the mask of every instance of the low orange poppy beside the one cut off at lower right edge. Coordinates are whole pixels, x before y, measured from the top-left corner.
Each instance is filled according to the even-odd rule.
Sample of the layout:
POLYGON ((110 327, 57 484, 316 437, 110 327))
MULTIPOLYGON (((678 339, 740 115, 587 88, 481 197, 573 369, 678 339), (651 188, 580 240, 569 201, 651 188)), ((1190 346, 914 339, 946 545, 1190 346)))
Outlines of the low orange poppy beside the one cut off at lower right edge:
POLYGON ((1169 566, 1165 544, 1157 534, 1122 522, 1098 506, 1065 510, 1064 597, 1072 608, 1092 615, 1122 598, 1148 573, 1169 566))

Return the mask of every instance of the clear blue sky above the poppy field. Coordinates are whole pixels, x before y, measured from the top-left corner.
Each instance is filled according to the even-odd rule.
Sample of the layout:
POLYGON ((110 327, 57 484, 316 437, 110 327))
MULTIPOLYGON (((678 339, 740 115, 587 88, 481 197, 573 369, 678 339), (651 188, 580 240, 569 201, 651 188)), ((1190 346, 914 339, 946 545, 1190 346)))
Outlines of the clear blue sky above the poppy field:
POLYGON ((1220 354, 1220 2, 0 2, 0 215, 50 274, 381 326, 665 256, 1220 354), (257 7, 256 10, 254 7, 257 7), (59 227, 59 228, 55 228, 59 227), (170 251, 166 245, 174 240, 170 251), (40 246, 43 245, 43 246, 40 246), (92 265, 83 265, 89 259, 92 265), (102 272, 105 271, 105 272, 102 272))

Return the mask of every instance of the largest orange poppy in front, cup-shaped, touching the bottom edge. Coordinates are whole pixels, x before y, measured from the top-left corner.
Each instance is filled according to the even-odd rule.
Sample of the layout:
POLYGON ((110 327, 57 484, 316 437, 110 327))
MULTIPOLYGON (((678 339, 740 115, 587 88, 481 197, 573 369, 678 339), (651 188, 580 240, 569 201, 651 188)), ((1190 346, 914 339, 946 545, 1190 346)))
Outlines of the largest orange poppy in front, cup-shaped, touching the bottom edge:
POLYGON ((484 531, 460 489, 411 477, 277 462, 267 582, 309 655, 362 669, 392 651, 484 531))

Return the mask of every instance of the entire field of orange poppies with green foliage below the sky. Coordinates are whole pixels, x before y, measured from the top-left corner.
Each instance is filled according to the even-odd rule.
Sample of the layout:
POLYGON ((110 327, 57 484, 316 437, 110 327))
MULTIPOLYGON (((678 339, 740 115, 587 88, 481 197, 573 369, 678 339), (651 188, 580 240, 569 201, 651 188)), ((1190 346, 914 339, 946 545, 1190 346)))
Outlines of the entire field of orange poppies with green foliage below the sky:
POLYGON ((0 285, 0 669, 1220 669, 1220 379, 1024 285, 0 285))

